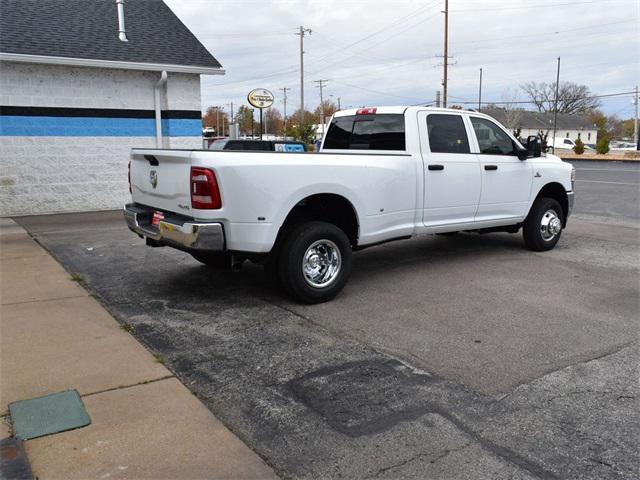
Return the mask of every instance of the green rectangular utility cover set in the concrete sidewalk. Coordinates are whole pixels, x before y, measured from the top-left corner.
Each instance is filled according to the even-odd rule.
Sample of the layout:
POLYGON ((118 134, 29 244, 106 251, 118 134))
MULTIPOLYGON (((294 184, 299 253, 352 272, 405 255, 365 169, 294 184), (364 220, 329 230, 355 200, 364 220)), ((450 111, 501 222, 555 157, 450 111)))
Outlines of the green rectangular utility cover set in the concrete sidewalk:
POLYGON ((85 427, 91 418, 76 390, 9 404, 9 414, 16 438, 31 438, 85 427))

